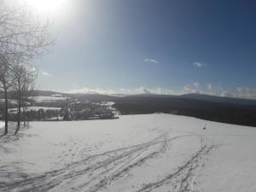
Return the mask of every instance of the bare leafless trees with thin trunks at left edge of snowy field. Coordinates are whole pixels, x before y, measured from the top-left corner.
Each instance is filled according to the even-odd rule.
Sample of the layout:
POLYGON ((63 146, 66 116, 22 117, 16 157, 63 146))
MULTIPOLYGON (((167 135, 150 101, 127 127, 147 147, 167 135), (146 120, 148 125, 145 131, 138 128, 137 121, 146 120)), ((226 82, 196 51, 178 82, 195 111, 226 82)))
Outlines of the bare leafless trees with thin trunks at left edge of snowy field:
POLYGON ((26 5, 0 1, 0 90, 3 91, 4 135, 8 134, 9 103, 15 102, 15 120, 20 130, 21 108, 31 104, 38 70, 32 61, 47 53, 53 39, 49 21, 43 22, 26 5))

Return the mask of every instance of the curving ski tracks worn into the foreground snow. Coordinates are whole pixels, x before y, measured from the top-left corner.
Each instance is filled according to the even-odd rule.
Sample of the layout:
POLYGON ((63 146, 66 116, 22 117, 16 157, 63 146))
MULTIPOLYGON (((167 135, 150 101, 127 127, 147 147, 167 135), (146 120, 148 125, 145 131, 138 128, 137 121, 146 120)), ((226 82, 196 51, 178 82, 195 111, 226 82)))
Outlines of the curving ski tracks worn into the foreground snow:
POLYGON ((129 177, 129 172, 133 168, 143 165, 147 160, 157 158, 160 154, 164 154, 172 141, 182 137, 200 137, 201 148, 189 160, 184 162, 183 166, 178 166, 176 171, 163 176, 154 183, 142 183, 141 188, 136 191, 158 191, 163 187, 175 192, 195 191, 194 177, 196 172, 204 165, 207 155, 213 148, 217 148, 217 145, 206 144, 204 137, 195 134, 168 138, 168 133, 164 133, 148 143, 91 155, 84 160, 73 162, 59 170, 45 172, 42 175, 32 177, 20 172, 19 176, 22 177, 22 180, 12 183, 0 182, 0 189, 3 192, 43 192, 49 189, 58 191, 55 190, 55 187, 63 185, 66 186, 64 189, 67 189, 69 187, 68 183, 76 182, 78 179, 80 182, 75 185, 76 187, 67 189, 68 191, 100 191, 120 177, 129 177), (80 179, 81 177, 82 179, 80 179))

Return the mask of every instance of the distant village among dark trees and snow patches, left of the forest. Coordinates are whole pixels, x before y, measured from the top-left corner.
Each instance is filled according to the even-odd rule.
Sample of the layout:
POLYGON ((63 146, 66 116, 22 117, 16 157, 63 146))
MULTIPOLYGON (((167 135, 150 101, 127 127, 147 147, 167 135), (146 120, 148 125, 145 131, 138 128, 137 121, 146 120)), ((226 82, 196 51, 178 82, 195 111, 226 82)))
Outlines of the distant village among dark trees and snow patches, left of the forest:
MULTIPOLYGON (((54 98, 55 96, 52 97, 54 98)), ((113 102, 80 102, 78 100, 71 100, 70 98, 65 100, 48 98, 48 100, 39 100, 39 103, 33 103, 33 106, 28 105, 25 108, 21 108, 20 118, 24 122, 35 120, 118 119, 119 111, 113 108, 113 104, 113 102)), ((0 111, 0 119, 3 120, 2 113, 0 111)), ((9 108, 9 120, 15 121, 16 117, 17 108, 9 108)))

